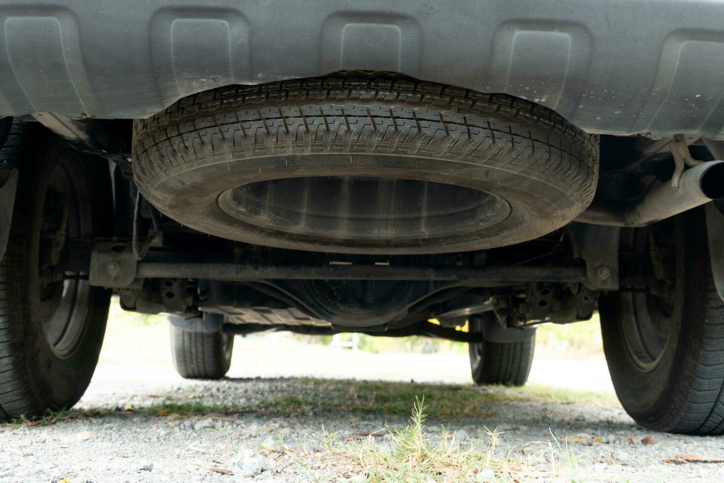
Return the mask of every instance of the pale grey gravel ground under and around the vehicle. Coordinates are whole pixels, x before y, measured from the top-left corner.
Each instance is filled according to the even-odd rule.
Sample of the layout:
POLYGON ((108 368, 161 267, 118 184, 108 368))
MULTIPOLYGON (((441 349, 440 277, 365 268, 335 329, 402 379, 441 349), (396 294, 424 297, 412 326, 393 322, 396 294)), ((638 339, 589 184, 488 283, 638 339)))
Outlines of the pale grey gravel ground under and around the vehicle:
MULTIPOLYGON (((273 339, 237 338, 235 353, 231 377, 218 382, 180 379, 170 364, 133 365, 138 362, 133 354, 127 364, 113 364, 106 354, 111 363, 98 367, 79 403, 85 411, 104 408, 104 413, 49 425, 6 425, 0 431, 0 482, 365 482, 368 469, 355 459, 355 452, 369 448, 369 440, 383 450, 393 440, 386 431, 381 436, 366 433, 387 425, 403 429, 408 416, 358 411, 364 405, 352 404, 350 411, 338 403, 330 406, 332 400, 369 398, 364 382, 285 378, 279 372, 336 378, 345 376, 340 367, 346 367, 346 376, 353 377, 354 368, 338 364, 345 356, 360 369, 357 375, 385 366, 384 379, 390 382, 371 395, 382 400, 389 392, 416 387, 409 382, 412 378, 442 380, 439 375, 447 371, 454 374, 445 378, 450 382, 464 379, 460 374, 466 370, 461 367, 463 356, 352 353, 273 339), (268 363, 238 361, 256 352, 266 354, 268 363), (149 408, 161 401, 219 409, 149 416, 149 408), (243 411, 226 413, 224 408, 231 407, 243 411)), ((534 374, 535 367, 544 368, 546 377, 550 371, 571 371, 580 377, 580 386, 602 387, 604 396, 590 403, 555 403, 503 388, 446 388, 453 402, 456 391, 479 393, 479 400, 466 408, 478 417, 437 413, 425 422, 424 437, 435 445, 445 442, 485 452, 491 448, 489 429, 497 428, 494 452, 503 461, 513 461, 513 470, 490 466, 466 474, 442 471, 440 481, 724 481, 724 464, 665 463, 684 454, 723 457, 724 438, 641 429, 618 404, 607 402, 610 381, 601 361, 536 360, 534 374), (455 436, 446 437, 443 425, 455 436)), ((572 384, 570 378, 567 384, 572 384)))

